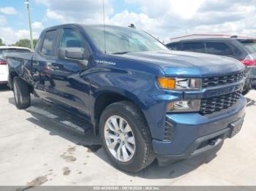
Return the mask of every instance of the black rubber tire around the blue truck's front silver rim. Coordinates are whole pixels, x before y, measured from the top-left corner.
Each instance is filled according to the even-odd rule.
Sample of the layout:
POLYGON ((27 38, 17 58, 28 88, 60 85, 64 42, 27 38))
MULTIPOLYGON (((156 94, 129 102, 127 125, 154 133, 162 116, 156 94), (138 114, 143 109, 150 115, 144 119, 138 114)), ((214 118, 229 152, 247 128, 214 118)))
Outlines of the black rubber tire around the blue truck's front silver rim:
MULTIPOLYGON (((151 133, 148 128, 145 117, 143 116, 140 109, 138 109, 138 107, 132 104, 130 101, 120 101, 114 104, 110 104, 109 106, 106 107, 106 109, 102 112, 102 115, 99 120, 99 136, 102 141, 102 146, 104 147, 105 152, 107 153, 111 162, 113 163, 114 166, 116 166, 116 168, 119 168, 122 171, 127 171, 132 173, 138 172, 143 168, 146 168, 146 166, 150 165, 155 159, 153 148, 152 148, 151 133), (121 117, 119 118, 119 120, 116 120, 117 124, 119 122, 119 125, 121 122, 120 119, 124 120, 124 125, 123 125, 124 131, 127 130, 127 128, 129 129, 130 127, 131 131, 127 134, 124 133, 125 136, 129 134, 128 135, 129 138, 131 138, 132 136, 134 138, 135 145, 129 144, 127 143, 127 141, 121 141, 119 145, 117 144, 118 148, 121 147, 121 143, 122 143, 126 145, 126 147, 127 147, 127 144, 129 144, 130 146, 132 146, 132 149, 134 149, 133 155, 132 155, 132 152, 127 152, 128 155, 131 154, 129 155, 129 157, 131 158, 128 157, 129 160, 127 161, 124 161, 125 159, 124 152, 123 152, 124 145, 123 147, 121 147, 123 160, 121 160, 121 158, 119 158, 118 160, 117 158, 118 155, 117 154, 116 156, 113 155, 113 149, 111 150, 108 147, 109 139, 106 138, 108 137, 106 136, 106 134, 112 133, 112 132, 110 132, 111 130, 108 129, 109 126, 107 125, 107 122, 110 119, 115 119, 115 117, 121 117)), ((121 136, 123 136, 122 133, 120 133, 120 137, 121 136)), ((118 141, 120 141, 120 139, 118 141)), ((127 149, 127 151, 129 151, 129 149, 127 149)))

